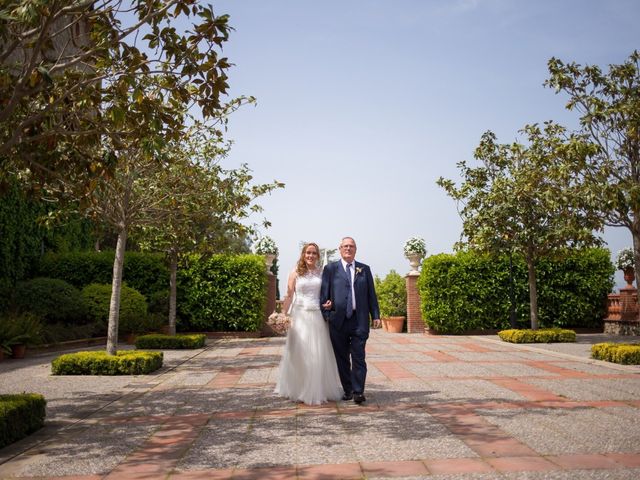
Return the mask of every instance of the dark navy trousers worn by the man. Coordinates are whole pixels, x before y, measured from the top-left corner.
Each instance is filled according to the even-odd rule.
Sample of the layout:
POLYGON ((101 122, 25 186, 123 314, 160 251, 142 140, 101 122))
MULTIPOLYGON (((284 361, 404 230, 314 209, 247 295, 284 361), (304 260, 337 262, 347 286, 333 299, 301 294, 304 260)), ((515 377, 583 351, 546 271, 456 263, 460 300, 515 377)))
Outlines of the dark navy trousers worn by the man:
POLYGON ((331 344, 345 393, 364 393, 364 382, 367 377, 364 348, 368 335, 358 332, 356 326, 355 312, 350 319, 345 319, 340 329, 335 328, 333 324, 329 325, 331 344))

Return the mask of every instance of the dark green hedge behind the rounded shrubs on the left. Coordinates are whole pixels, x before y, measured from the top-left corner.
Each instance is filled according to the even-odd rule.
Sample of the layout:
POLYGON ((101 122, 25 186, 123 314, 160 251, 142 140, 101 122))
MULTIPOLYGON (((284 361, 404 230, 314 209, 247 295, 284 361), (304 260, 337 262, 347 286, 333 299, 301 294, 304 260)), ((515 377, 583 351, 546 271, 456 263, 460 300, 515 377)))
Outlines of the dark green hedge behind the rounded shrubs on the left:
MULTIPOLYGON (((61 278, 77 288, 91 283, 111 284, 113 278, 113 251, 48 253, 40 260, 41 276, 61 278)), ((164 255, 157 253, 126 252, 123 282, 145 297, 169 287, 169 270, 164 255)))

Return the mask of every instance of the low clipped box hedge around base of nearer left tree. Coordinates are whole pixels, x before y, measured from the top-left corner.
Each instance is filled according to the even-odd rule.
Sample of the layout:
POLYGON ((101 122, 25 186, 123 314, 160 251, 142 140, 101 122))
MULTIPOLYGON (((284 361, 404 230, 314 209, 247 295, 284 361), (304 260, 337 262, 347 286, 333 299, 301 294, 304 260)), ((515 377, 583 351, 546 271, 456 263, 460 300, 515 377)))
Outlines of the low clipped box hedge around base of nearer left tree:
POLYGON ((141 375, 162 367, 162 352, 122 350, 115 355, 105 351, 60 355, 51 362, 53 375, 141 375))

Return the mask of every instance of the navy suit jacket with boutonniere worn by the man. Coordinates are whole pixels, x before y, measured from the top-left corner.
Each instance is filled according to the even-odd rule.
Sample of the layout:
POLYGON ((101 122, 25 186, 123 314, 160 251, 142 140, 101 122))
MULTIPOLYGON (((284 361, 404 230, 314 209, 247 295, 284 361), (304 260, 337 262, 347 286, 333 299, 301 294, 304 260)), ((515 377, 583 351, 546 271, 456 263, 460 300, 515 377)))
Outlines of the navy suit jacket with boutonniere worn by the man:
MULTIPOLYGON (((369 320, 380 318, 378 297, 373 283, 373 276, 368 265, 353 262, 355 274, 353 290, 356 299, 357 329, 369 332, 369 320)), ((322 286, 320 287, 320 305, 331 300, 331 310, 322 311, 322 315, 331 325, 340 329, 346 318, 347 295, 349 289, 347 272, 342 268, 342 262, 337 261, 324 267, 322 271, 322 286)))

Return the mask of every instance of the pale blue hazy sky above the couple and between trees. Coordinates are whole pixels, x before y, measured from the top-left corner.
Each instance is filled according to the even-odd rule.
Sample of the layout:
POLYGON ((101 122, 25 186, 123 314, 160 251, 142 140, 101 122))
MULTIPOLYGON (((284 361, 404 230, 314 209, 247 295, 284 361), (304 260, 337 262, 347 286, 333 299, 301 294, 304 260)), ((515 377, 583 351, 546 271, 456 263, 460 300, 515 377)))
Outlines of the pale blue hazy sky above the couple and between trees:
MULTIPOLYGON (((567 97, 544 87, 547 62, 623 63, 640 48, 637 0, 218 0, 234 28, 223 54, 230 95, 228 168, 286 187, 258 203, 279 248, 279 285, 301 241, 344 236, 374 275, 404 275, 411 236, 453 252, 461 221, 436 185, 460 183, 481 135, 522 141, 527 124, 578 126, 567 97)), ((259 220, 262 217, 257 218, 259 220)), ((631 245, 607 229, 613 255, 631 245)), ((616 283, 624 285, 621 275, 616 283)))

